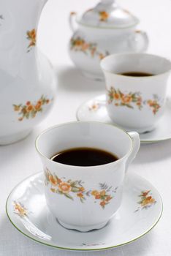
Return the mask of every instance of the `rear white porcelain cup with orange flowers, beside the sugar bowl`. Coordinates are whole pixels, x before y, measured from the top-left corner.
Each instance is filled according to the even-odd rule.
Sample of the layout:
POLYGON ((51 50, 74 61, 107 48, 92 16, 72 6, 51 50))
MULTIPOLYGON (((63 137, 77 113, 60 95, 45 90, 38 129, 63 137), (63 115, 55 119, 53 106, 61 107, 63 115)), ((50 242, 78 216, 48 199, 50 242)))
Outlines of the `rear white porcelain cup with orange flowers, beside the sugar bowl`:
POLYGON ((148 132, 164 113, 171 62, 145 53, 110 55, 101 61, 106 80, 107 112, 127 131, 148 132), (145 77, 119 75, 145 72, 145 77))

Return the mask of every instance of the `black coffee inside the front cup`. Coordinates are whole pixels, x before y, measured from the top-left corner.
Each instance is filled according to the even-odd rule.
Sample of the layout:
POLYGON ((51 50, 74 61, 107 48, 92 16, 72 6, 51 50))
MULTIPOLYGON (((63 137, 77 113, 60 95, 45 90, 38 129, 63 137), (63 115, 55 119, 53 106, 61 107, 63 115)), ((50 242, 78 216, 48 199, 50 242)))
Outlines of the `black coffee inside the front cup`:
POLYGON ((118 160, 114 154, 97 148, 71 148, 51 157, 55 162, 75 166, 105 165, 118 160))

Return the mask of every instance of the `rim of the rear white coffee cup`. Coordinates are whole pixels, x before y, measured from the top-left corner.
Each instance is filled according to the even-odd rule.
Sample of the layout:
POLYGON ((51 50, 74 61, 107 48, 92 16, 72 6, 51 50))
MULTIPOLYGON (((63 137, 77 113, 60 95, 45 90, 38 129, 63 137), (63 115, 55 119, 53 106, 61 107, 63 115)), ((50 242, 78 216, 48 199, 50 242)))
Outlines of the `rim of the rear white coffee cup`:
MULTIPOLYGON (((101 67, 103 72, 107 72, 109 74, 121 76, 121 77, 124 77, 124 78, 128 77, 128 78, 132 78, 132 79, 140 79, 140 77, 135 77, 135 76, 132 76, 132 75, 129 75, 129 76, 121 75, 121 74, 118 74, 118 73, 115 73, 115 72, 110 72, 109 70, 106 70, 106 69, 103 68, 103 63, 105 61, 107 61, 107 59, 114 58, 114 57, 117 57, 117 56, 151 56, 151 57, 157 57, 159 59, 163 59, 164 61, 167 61, 170 64, 170 69, 165 71, 165 72, 161 72, 159 74, 154 74, 154 75, 152 75, 152 77, 158 77, 158 76, 165 75, 165 74, 171 72, 171 61, 169 59, 163 57, 163 56, 159 56, 157 54, 152 54, 152 53, 114 53, 114 54, 110 54, 110 55, 104 57, 104 59, 102 59, 102 61, 100 61, 100 67, 101 67)), ((147 78, 149 79, 149 76, 141 77, 141 79, 147 79, 147 78)))

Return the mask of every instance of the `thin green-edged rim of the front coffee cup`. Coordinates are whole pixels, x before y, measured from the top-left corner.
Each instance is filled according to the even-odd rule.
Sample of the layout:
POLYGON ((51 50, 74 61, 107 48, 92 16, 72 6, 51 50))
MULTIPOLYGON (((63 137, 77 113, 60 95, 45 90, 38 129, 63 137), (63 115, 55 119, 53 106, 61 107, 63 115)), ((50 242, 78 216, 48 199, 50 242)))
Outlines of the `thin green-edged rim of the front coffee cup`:
POLYGON ((107 125, 107 126, 113 126, 117 129, 120 129, 122 132, 124 132, 126 135, 129 136, 129 139, 132 141, 132 146, 129 148, 129 151, 127 151, 127 153, 119 158, 118 160, 116 161, 113 161, 113 162, 110 162, 110 163, 107 163, 107 164, 104 164, 104 165, 94 165, 94 166, 78 166, 78 165, 66 165, 66 164, 62 164, 62 163, 59 163, 59 162, 54 162, 52 159, 49 159, 48 157, 45 156, 45 154, 42 154, 42 152, 40 151, 39 147, 38 147, 38 140, 39 138, 41 138, 42 135, 44 135, 46 132, 48 132, 50 129, 56 129, 58 127, 62 127, 62 126, 66 126, 67 124, 80 124, 80 123, 84 123, 84 124, 92 124, 92 123, 99 123, 99 124, 104 124, 100 121, 69 121, 69 122, 66 122, 66 123, 62 123, 62 124, 56 124, 52 127, 49 127, 45 130, 43 130, 36 138, 35 140, 35 148, 37 150, 37 153, 43 157, 47 162, 53 162, 53 163, 56 163, 58 164, 59 166, 65 166, 65 167, 70 167, 70 168, 79 168, 79 169, 91 169, 92 167, 95 169, 95 168, 99 168, 99 167, 102 167, 102 166, 109 166, 109 165, 113 165, 113 163, 118 163, 118 162, 121 162, 123 161, 123 159, 125 159, 126 157, 129 157, 129 155, 132 153, 132 150, 133 150, 133 139, 132 137, 129 135, 128 132, 126 132, 124 129, 122 129, 121 127, 118 127, 117 125, 114 125, 114 124, 104 124, 104 125, 107 125))

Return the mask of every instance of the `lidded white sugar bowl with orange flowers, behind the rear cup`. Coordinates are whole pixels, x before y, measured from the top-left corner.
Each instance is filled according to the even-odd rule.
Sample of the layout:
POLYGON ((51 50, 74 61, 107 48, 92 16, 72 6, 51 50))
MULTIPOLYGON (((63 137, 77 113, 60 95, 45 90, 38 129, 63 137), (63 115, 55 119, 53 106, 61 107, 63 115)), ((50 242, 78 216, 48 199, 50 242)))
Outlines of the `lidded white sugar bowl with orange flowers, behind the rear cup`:
POLYGON ((137 30, 139 20, 115 0, 101 0, 94 8, 77 15, 71 12, 72 38, 69 55, 83 75, 102 80, 99 62, 107 55, 144 52, 148 48, 145 31, 137 30))

